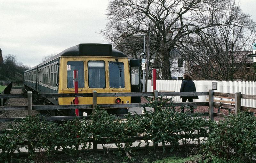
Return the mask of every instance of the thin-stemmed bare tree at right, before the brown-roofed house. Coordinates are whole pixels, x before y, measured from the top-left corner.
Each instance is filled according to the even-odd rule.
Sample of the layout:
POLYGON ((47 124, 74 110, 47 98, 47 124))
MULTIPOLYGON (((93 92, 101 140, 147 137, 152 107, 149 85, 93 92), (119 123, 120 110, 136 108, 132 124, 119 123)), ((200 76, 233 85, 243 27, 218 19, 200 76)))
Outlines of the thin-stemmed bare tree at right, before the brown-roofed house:
POLYGON ((228 4, 222 17, 215 17, 218 24, 196 35, 188 35, 183 47, 192 75, 207 80, 250 80, 247 53, 255 39, 255 22, 235 3, 228 4))

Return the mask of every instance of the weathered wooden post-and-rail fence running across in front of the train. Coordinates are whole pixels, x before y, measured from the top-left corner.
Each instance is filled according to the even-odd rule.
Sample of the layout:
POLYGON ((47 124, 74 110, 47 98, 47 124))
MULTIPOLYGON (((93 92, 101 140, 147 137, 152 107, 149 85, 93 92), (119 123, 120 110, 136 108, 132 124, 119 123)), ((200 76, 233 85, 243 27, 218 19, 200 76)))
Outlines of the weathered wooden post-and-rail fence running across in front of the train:
MULTIPOLYGON (((100 106, 100 108, 131 108, 131 107, 143 107, 144 104, 138 103, 138 104, 97 104, 97 97, 154 97, 155 99, 159 96, 209 96, 208 101, 209 102, 175 102, 173 103, 174 106, 182 106, 182 105, 188 105, 188 106, 208 106, 208 112, 204 113, 188 113, 191 116, 209 116, 210 120, 214 120, 214 116, 223 117, 227 116, 221 113, 214 113, 213 108, 214 107, 220 107, 225 106, 225 108, 234 108, 235 113, 241 111, 246 112, 256 112, 256 108, 248 108, 241 106, 241 98, 244 99, 254 99, 256 100, 256 95, 244 95, 240 92, 237 92, 235 94, 231 93, 220 93, 220 92, 213 92, 213 90, 209 90, 208 92, 158 92, 158 90, 154 90, 154 92, 130 92, 130 93, 97 93, 96 91, 93 91, 93 93, 65 93, 65 94, 32 94, 32 92, 28 92, 28 94, 2 94, 0 95, 0 98, 28 98, 28 105, 26 106, 0 106, 0 111, 10 111, 10 110, 27 110, 28 115, 31 115, 32 110, 63 110, 63 109, 92 109, 94 112, 94 109, 97 106, 100 106), (235 105, 230 104, 223 104, 223 103, 216 103, 214 102, 213 98, 214 96, 222 96, 222 97, 232 97, 235 99, 235 105), (87 104, 87 105, 32 105, 32 98, 37 97, 92 97, 93 103, 87 104)), ((154 110, 155 111, 155 110, 154 110)), ((120 119, 124 119, 125 115, 116 115, 120 119)), ((45 120, 49 121, 63 121, 63 120, 71 120, 74 119, 76 116, 60 116, 60 117, 40 117, 45 120)), ((25 117, 19 117, 19 118, 0 118, 0 122, 11 122, 11 121, 19 121, 24 119, 25 117)), ((79 119, 89 119, 89 116, 78 116, 79 119)), ((132 137, 134 140, 143 140, 143 137, 141 136, 135 136, 132 137)), ((93 145, 93 151, 97 152, 97 144, 100 144, 100 142, 95 142, 93 145)))

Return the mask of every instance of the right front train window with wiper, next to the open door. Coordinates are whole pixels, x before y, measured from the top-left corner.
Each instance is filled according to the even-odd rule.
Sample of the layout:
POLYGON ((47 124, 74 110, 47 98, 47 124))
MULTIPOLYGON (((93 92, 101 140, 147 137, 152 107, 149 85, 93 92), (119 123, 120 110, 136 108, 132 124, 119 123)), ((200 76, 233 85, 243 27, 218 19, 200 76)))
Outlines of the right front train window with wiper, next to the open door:
POLYGON ((109 62, 109 87, 124 88, 124 63, 109 62))

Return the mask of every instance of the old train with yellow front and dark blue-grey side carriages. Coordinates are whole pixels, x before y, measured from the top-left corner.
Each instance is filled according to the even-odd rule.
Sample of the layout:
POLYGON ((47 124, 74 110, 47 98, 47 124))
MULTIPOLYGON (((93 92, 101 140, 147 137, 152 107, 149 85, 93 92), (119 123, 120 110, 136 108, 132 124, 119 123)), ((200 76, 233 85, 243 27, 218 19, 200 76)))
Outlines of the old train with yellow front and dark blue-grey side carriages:
MULTIPOLYGON (((75 93, 73 71, 78 70, 78 93, 140 92, 140 59, 129 59, 111 44, 80 43, 24 72, 24 88, 32 93, 75 93)), ((41 105, 74 105, 75 97, 40 98, 41 105)), ((78 97, 92 104, 92 97, 78 97)), ((98 97, 98 104, 140 103, 140 97, 98 97)), ((78 108, 79 109, 79 108, 78 108)), ((128 108, 107 109, 127 114, 128 108)), ((79 109, 79 115, 91 110, 79 109)), ((52 116, 74 115, 75 109, 50 110, 52 116)))

